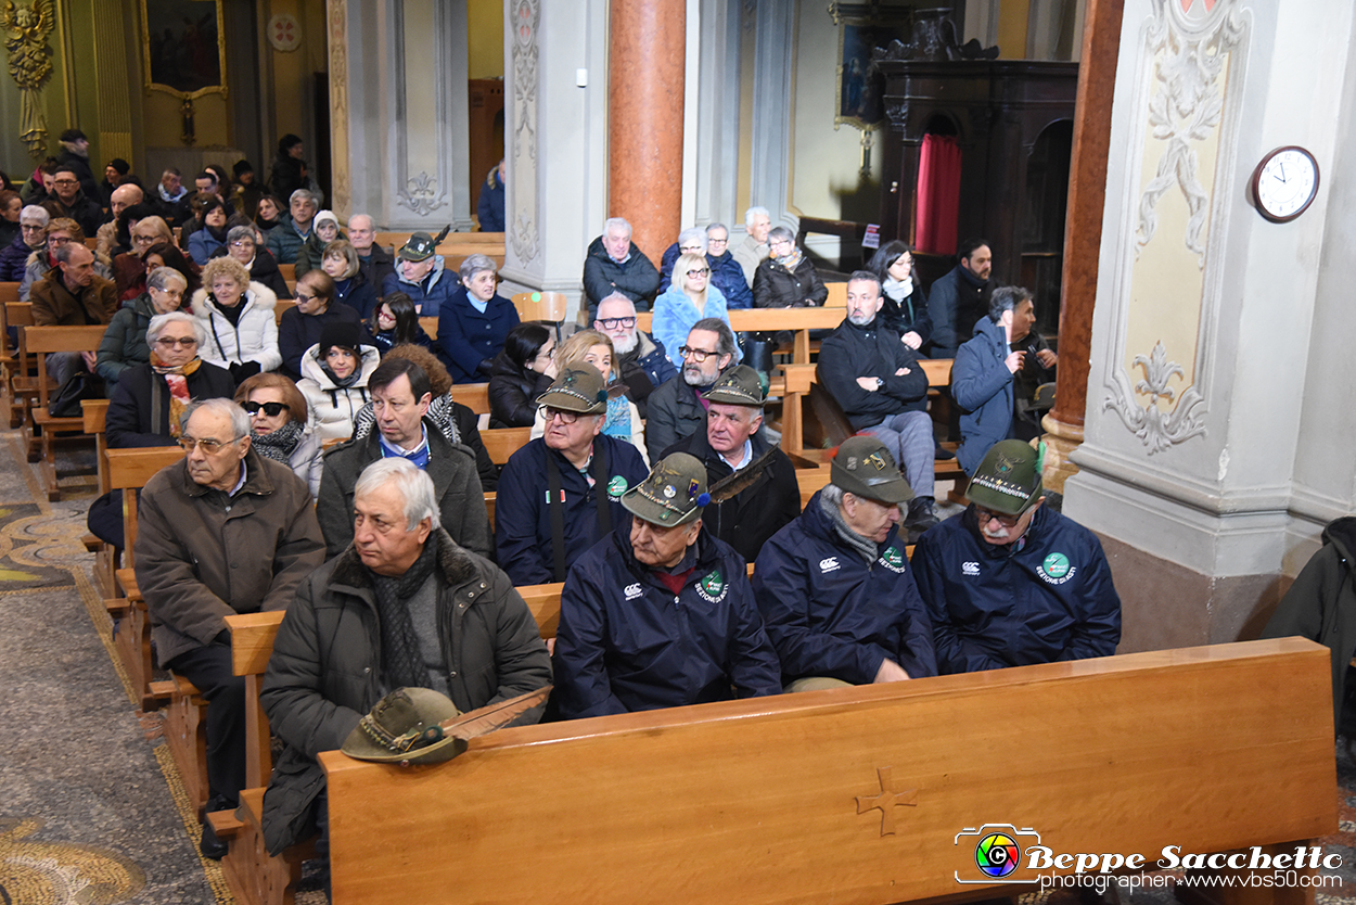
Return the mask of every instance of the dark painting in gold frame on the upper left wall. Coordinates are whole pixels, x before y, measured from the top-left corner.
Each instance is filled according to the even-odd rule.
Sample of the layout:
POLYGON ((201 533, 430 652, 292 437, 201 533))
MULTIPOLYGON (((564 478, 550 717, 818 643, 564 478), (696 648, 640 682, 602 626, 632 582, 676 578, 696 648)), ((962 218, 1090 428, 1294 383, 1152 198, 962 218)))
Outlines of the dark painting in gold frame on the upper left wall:
POLYGON ((184 100, 226 94, 221 0, 141 0, 146 91, 184 100))

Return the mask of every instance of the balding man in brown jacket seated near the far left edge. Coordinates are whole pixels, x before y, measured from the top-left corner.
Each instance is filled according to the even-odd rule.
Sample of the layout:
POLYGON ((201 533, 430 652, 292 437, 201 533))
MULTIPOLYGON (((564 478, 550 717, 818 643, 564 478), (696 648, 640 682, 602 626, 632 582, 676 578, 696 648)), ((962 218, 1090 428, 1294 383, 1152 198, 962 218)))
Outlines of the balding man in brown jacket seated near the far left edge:
MULTIPOLYGON (((39 327, 83 327, 106 324, 118 311, 118 289, 111 280, 94 271, 94 252, 79 242, 57 247, 57 266, 33 284, 33 323, 39 327)), ((54 351, 47 355, 47 370, 57 384, 76 372, 80 364, 94 372, 95 353, 54 351)))

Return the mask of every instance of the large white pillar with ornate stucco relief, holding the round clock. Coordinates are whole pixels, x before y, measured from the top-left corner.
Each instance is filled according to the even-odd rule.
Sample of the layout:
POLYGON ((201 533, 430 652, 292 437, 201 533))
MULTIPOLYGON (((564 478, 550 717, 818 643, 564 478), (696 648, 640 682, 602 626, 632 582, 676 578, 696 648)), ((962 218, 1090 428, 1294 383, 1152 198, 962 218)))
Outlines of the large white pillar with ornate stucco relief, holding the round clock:
POLYGON ((1322 522, 1356 505, 1356 19, 1245 0, 1124 7, 1063 510, 1102 537, 1134 651, 1256 638, 1322 522), (1276 224, 1248 186, 1290 144, 1322 178, 1307 212, 1276 224))

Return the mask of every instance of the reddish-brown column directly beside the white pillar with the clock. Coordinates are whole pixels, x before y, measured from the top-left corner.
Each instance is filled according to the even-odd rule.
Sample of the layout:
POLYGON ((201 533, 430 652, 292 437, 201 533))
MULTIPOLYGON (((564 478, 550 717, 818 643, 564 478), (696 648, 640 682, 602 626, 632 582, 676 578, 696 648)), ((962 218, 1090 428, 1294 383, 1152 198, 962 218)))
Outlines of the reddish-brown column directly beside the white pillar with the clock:
POLYGON ((1116 91, 1116 54, 1125 0, 1088 0, 1083 47, 1074 107, 1074 153, 1069 167, 1069 216, 1064 218, 1063 299, 1059 307, 1059 372, 1055 408, 1041 425, 1045 442, 1045 486, 1063 493, 1078 471, 1069 453, 1083 441, 1088 407, 1088 354, 1092 347, 1093 304, 1097 301, 1097 252, 1106 205, 1106 152, 1111 144, 1111 102, 1116 91))

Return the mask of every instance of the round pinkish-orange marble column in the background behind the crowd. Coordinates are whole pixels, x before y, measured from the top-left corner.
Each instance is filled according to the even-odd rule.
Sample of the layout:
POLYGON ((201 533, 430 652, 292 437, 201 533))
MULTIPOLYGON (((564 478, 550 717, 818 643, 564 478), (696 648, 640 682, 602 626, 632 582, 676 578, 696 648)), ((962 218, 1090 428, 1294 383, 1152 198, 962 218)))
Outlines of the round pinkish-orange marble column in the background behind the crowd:
POLYGON ((656 265, 682 216, 685 0, 610 8, 607 210, 631 221, 632 240, 656 265))

